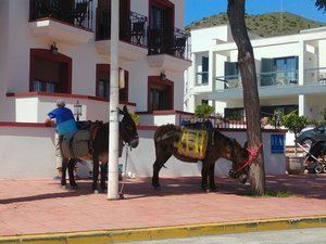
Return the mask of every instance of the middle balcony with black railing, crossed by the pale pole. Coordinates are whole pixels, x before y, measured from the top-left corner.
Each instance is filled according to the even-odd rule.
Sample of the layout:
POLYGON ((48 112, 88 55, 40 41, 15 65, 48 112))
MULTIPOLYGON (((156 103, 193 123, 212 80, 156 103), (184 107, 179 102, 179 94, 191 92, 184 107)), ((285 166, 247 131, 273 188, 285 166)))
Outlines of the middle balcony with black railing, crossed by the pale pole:
MULTIPOLYGON (((97 8, 97 50, 101 54, 110 54, 111 12, 109 8, 97 8)), ((129 12, 128 21, 120 26, 120 55, 123 61, 130 62, 147 55, 147 17, 129 12)))

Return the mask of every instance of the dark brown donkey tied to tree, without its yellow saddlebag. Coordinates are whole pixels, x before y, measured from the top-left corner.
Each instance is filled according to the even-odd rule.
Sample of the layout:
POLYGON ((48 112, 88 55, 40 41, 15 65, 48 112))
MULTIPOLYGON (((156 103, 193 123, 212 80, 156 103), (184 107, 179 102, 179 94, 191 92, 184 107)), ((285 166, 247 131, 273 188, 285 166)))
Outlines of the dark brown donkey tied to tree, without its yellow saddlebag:
MULTIPOLYGON (((197 159, 185 157, 178 154, 174 143, 179 140, 181 128, 174 125, 160 126, 154 134, 155 154, 156 159, 153 164, 153 178, 152 185, 155 189, 160 189, 159 172, 167 159, 174 155, 177 159, 188 163, 197 163, 197 159)), ((233 162, 233 169, 230 176, 233 178, 240 178, 241 182, 246 182, 248 175, 248 167, 244 167, 240 171, 240 166, 244 165, 249 158, 249 153, 242 147, 236 139, 230 139, 222 134, 217 129, 211 129, 209 145, 206 154, 202 160, 202 181, 201 187, 204 191, 216 190, 214 180, 215 162, 224 157, 233 162), (209 185, 208 185, 209 179, 209 185)))

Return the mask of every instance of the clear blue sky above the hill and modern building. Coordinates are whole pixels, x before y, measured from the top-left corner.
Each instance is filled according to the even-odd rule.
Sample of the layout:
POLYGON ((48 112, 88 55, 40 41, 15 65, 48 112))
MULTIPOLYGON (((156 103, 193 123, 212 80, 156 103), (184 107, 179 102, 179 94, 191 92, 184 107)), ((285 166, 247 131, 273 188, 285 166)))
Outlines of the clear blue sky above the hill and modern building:
MULTIPOLYGON (((263 14, 283 9, 306 18, 326 22, 326 13, 317 11, 314 2, 314 0, 247 0, 246 12, 248 14, 263 14)), ((188 25, 202 17, 226 12, 227 0, 185 0, 185 24, 188 25)))

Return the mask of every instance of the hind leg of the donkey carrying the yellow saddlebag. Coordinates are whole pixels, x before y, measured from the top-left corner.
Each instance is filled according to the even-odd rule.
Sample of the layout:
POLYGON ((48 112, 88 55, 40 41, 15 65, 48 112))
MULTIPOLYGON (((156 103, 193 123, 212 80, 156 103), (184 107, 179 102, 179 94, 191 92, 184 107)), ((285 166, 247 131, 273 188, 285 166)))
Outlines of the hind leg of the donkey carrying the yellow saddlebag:
POLYGON ((156 159, 155 163, 153 164, 152 185, 154 187, 154 189, 159 190, 160 189, 159 172, 163 167, 163 165, 172 156, 172 152, 166 146, 164 147, 156 146, 155 153, 156 153, 156 159))

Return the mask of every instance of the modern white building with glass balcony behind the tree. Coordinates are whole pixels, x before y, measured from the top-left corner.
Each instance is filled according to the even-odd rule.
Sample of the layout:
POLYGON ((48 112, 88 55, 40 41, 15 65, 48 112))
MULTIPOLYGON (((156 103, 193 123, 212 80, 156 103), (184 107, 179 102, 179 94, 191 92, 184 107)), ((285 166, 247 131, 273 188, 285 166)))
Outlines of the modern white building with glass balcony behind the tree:
MULTIPOLYGON (((326 107, 326 28, 262 38, 250 35, 262 116, 274 111, 321 119, 326 107)), ((209 102, 216 113, 242 119, 237 47, 227 25, 191 30, 192 66, 186 72, 185 111, 209 102)))

